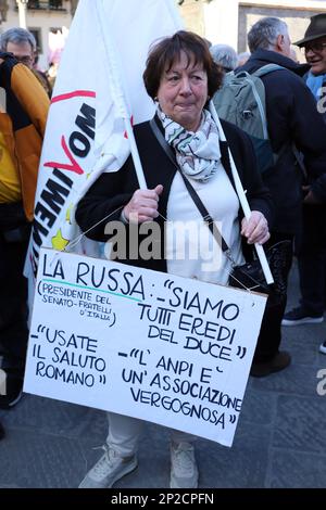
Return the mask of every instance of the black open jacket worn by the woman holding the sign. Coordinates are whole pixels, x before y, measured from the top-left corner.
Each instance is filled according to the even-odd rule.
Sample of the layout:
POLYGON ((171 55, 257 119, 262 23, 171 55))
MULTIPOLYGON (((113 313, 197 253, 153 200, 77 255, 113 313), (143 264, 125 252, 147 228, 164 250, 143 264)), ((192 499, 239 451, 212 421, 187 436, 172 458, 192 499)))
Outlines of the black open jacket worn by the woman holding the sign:
MULTIPOLYGON (((271 222, 273 216, 273 204, 268 190, 263 187, 260 174, 256 169, 255 155, 251 141, 240 129, 223 122, 226 139, 231 149, 239 176, 247 197, 252 209, 261 211, 271 222)), ((159 201, 159 213, 156 221, 160 225, 160 235, 158 239, 160 246, 164 246, 164 219, 166 218, 167 201, 171 184, 177 171, 173 162, 167 157, 158 142, 149 123, 135 126, 135 138, 145 173, 148 189, 153 189, 158 184, 163 184, 163 193, 159 201)), ((226 171, 231 179, 229 169, 226 171)), ((210 186, 210 184, 208 184, 210 186)), ((121 219, 121 211, 131 199, 134 192, 139 188, 131 156, 128 157, 124 166, 116 173, 102 174, 91 186, 86 195, 79 201, 76 209, 76 221, 80 229, 87 232, 87 237, 96 241, 106 241, 109 235, 104 234, 104 226, 109 221, 102 221, 93 227, 108 215, 110 221, 121 219)), ((218 195, 216 195, 218 200, 218 195)), ((193 205, 196 207, 196 205, 193 205)), ((139 239, 141 241, 141 237, 139 239)), ((162 248, 163 250, 163 248, 162 248)), ((162 252, 161 252, 162 253, 162 252)), ((128 260, 128 257, 121 262, 128 262, 140 267, 166 271, 164 253, 160 260, 128 260)))

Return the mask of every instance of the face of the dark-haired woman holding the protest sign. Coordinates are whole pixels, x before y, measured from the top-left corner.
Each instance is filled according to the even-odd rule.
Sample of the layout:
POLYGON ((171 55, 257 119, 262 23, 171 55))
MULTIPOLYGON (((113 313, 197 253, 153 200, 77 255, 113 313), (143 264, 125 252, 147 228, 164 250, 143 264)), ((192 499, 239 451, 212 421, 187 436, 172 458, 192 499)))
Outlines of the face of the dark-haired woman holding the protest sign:
POLYGON ((161 78, 158 99, 163 112, 188 131, 197 131, 208 101, 208 75, 184 51, 161 78))

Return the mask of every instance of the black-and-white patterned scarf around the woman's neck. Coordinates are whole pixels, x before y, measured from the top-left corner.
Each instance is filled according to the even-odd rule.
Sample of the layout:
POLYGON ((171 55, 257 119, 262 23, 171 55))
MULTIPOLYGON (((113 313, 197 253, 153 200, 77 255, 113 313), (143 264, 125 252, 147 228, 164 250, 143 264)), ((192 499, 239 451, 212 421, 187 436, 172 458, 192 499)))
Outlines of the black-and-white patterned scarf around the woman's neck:
POLYGON ((183 126, 167 117, 158 104, 165 140, 176 151, 176 158, 183 173, 191 179, 206 182, 217 170, 221 160, 217 127, 206 110, 198 131, 187 131, 183 126))

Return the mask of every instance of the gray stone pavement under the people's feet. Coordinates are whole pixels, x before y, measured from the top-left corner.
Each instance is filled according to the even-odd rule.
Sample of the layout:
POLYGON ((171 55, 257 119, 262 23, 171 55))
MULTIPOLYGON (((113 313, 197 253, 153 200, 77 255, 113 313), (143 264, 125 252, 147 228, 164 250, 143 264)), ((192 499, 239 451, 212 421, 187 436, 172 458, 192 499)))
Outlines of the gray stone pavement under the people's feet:
MULTIPOLYGON (((297 304, 296 267, 289 307, 297 304)), ((292 365, 265 379, 250 378, 234 446, 199 439, 200 487, 326 487, 326 395, 316 373, 326 369, 318 345, 325 323, 284 328, 292 365)), ((0 488, 77 487, 102 455, 106 433, 102 411, 25 395, 0 411, 7 437, 0 442, 0 488)), ((126 488, 168 487, 166 430, 149 424, 140 444, 139 468, 115 484, 126 488)))

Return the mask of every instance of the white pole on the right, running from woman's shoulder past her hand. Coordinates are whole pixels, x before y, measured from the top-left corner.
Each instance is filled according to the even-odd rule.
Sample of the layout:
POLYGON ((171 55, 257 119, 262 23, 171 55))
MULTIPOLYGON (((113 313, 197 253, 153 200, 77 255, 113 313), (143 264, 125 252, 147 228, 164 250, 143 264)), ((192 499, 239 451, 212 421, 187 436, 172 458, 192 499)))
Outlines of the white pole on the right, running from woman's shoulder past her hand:
MULTIPOLYGON (((218 115, 217 115, 217 113, 216 113, 216 110, 215 110, 215 106, 214 106, 213 101, 210 101, 210 111, 211 111, 211 114, 212 114, 212 116, 213 116, 213 118, 214 118, 216 125, 217 125, 217 128, 218 128, 218 131, 220 131, 220 136, 221 136, 221 140, 222 140, 222 141, 226 141, 226 138, 225 138, 225 135, 224 135, 224 131, 223 131, 223 128, 222 128, 222 125, 221 125, 221 122, 220 122, 218 115)), ((229 154, 229 161, 230 161, 230 166, 231 166, 231 173, 233 173, 233 177, 234 177, 234 181, 235 181, 237 194, 238 194, 238 197, 239 197, 239 201, 240 201, 240 204, 241 204, 241 207, 242 207, 244 217, 246 217, 247 219, 249 219, 250 216, 251 216, 250 206, 249 206, 249 203, 248 203, 246 193, 244 193, 244 191, 243 191, 242 183, 241 183, 241 181, 240 181, 239 174, 238 174, 238 170, 237 170, 237 167, 236 167, 234 157, 233 157, 231 152, 230 152, 229 149, 228 149, 228 154, 229 154)), ((266 258, 266 255, 265 255, 265 252, 264 252, 263 246, 262 246, 261 244, 254 243, 254 247, 255 247, 258 257, 259 257, 259 259, 260 259, 260 263, 261 263, 261 266, 262 266, 262 269, 263 269, 263 272, 264 272, 264 277, 265 277, 265 279, 266 279, 266 282, 267 282, 268 284, 269 284, 269 283, 274 283, 273 275, 272 275, 272 272, 271 272, 271 269, 269 269, 269 266, 268 266, 267 258, 266 258)))

